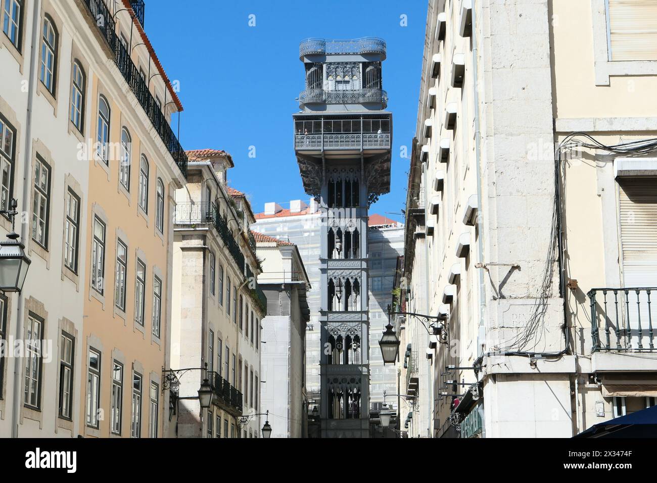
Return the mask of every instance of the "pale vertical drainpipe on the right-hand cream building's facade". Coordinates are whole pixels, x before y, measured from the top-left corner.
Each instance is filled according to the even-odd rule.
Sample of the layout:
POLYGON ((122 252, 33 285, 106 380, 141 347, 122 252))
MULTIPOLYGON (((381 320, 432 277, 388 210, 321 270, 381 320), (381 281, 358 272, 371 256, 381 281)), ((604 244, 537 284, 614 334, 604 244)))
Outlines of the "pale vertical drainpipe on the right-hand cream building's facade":
MULTIPOLYGON (((476 29, 476 2, 472 2, 472 76, 474 77, 474 156, 476 159, 477 168, 477 233, 479 236, 479 261, 484 263, 484 216, 482 215, 482 168, 481 168, 481 130, 479 119, 479 89, 478 89, 478 64, 477 64, 477 29, 476 29)), ((482 334, 484 328, 484 321, 486 317, 486 285, 484 282, 484 270, 479 271, 479 329, 480 333, 477 338, 482 334)), ((484 340, 478 340, 477 356, 483 352, 482 342, 485 342, 486 333, 484 331, 484 340)))

